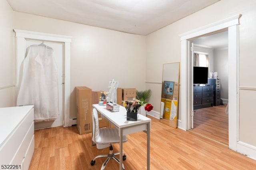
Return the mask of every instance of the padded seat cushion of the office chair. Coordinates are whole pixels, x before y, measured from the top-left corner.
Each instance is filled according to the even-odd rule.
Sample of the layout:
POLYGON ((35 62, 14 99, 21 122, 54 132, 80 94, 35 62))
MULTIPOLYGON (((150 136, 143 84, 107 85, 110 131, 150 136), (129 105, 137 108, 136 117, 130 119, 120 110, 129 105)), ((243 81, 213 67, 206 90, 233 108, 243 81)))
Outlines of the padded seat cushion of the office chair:
MULTIPOLYGON (((100 128, 100 135, 96 137, 98 144, 119 143, 119 132, 117 128, 100 128)), ((126 136, 123 136, 123 142, 127 142, 126 136)))

